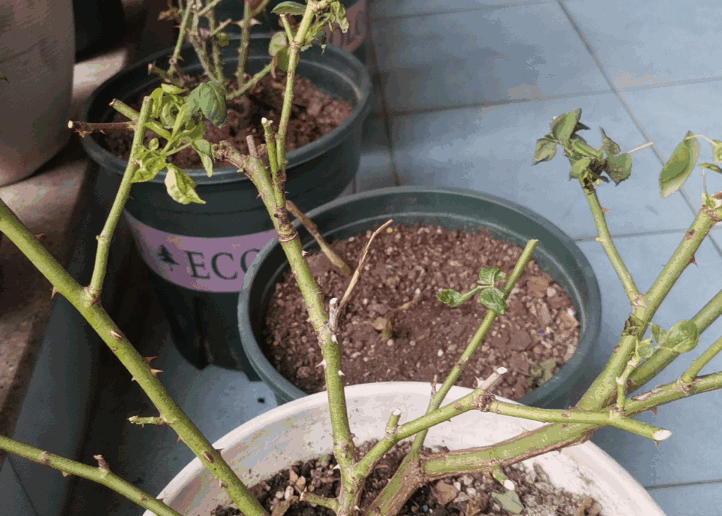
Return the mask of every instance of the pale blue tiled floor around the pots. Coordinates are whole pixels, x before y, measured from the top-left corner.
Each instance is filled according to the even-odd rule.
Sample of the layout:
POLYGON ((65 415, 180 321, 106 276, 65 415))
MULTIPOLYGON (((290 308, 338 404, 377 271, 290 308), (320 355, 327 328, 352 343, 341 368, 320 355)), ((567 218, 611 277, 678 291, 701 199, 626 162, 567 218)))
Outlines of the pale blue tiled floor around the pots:
MULTIPOLYGON (((566 161, 559 157, 532 168, 535 141, 553 116, 582 108, 594 145, 601 144, 600 126, 626 150, 653 143, 634 155, 629 181, 599 192, 610 209, 607 220, 619 252, 644 291, 683 238, 702 192, 695 173, 680 192, 661 199, 657 175, 662 164, 687 130, 722 139, 715 122, 722 119, 722 75, 714 43, 720 19, 722 5, 716 0, 370 1, 367 63, 378 102, 366 121, 355 189, 470 188, 526 206, 558 225, 579 243, 599 279, 604 312, 595 366, 601 368, 629 303, 594 241, 594 222, 577 183, 566 180, 566 161)), ((706 144, 701 158, 711 158, 706 144)), ((707 183, 712 191, 722 189, 718 177, 707 183)), ((685 271, 655 317, 657 324, 668 328, 691 317, 719 291, 720 244, 722 231, 715 229, 697 254, 697 266, 685 271)), ((211 439, 275 406, 268 388, 240 373, 211 366, 199 374, 186 365, 166 345, 165 326, 156 322, 149 330, 156 334, 149 338, 165 339, 156 367, 165 370, 169 389, 211 439), (201 396, 186 396, 194 387, 201 396)), ((721 332, 722 323, 712 325, 698 349, 721 332)), ((676 378, 690 358, 670 366, 659 383, 676 378)), ((720 367, 722 358, 703 372, 720 367)), ((102 395, 122 420, 126 403, 136 410, 141 397, 136 391, 129 394, 125 381, 118 382, 102 395)), ((610 429, 597 432, 594 442, 670 516, 719 514, 722 396, 698 396, 640 417, 673 436, 655 446, 610 429)), ((122 433, 126 445, 119 456, 125 476, 150 492, 158 492, 190 459, 168 432, 124 426, 122 433), (170 459, 153 460, 156 447, 169 451, 170 459)), ((108 438, 93 445, 103 450, 114 442, 108 438)), ((79 490, 75 514, 97 510, 98 494, 79 490)), ((138 511, 117 501, 104 513, 138 511)))

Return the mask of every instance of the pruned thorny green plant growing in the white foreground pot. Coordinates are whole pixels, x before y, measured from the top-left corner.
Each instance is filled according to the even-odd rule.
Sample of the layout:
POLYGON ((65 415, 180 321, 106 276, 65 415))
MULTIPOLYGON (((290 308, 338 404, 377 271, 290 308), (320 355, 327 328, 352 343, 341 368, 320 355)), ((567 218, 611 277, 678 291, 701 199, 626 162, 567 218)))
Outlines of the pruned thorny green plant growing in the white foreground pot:
MULTIPOLYGON (((291 66, 289 68, 291 70, 295 66, 295 59, 301 46, 300 42, 303 41, 303 27, 308 27, 314 16, 314 10, 319 6, 330 7, 332 14, 334 13, 333 9, 338 9, 337 4, 317 3, 315 0, 309 0, 307 10, 304 12, 304 19, 300 24, 301 30, 293 34, 295 44, 291 45, 290 49, 291 66)), ((289 95, 286 99, 285 109, 290 109, 290 97, 289 95)), ((183 128, 188 129, 188 124, 192 128, 197 128, 194 116, 201 111, 213 111, 208 109, 213 105, 213 103, 204 104, 204 107, 201 108, 192 96, 173 88, 161 88, 161 93, 157 93, 154 98, 146 97, 144 99, 139 113, 126 110, 131 119, 128 125, 134 130, 132 155, 118 192, 117 202, 114 203, 108 222, 98 236, 96 266, 89 285, 82 286, 75 282, 43 248, 42 244, 22 226, 4 203, 0 203, 0 231, 5 233, 28 256, 53 283, 58 292, 88 320, 109 349, 127 368, 132 379, 143 388, 158 409, 157 415, 134 416, 130 420, 140 425, 170 426, 177 432, 179 440, 193 450, 198 461, 209 470, 216 485, 225 490, 232 503, 243 514, 266 516, 269 509, 260 504, 248 486, 233 471, 227 461, 230 458, 224 457, 221 453, 222 450, 218 450, 205 439, 187 415, 170 399, 158 379, 162 371, 153 367, 153 357, 144 358, 135 350, 122 330, 108 317, 99 302, 104 282, 108 245, 114 227, 121 216, 132 181, 142 179, 144 175, 155 170, 159 166, 157 160, 163 158, 159 147, 152 143, 152 140, 147 145, 143 143, 145 130, 150 129, 159 135, 168 134, 173 130, 168 134, 168 140, 172 142, 171 147, 183 145, 181 139, 176 138, 173 134, 176 132, 175 129, 181 134, 183 128), (155 99, 159 100, 160 108, 154 108, 155 99), (161 118, 158 110, 162 111, 163 106, 171 106, 165 108, 167 109, 166 114, 171 114, 169 118, 161 118), (177 110, 174 110, 173 106, 177 110), (154 111, 154 109, 157 110, 154 111), (188 113, 190 116, 187 118, 188 113)), ((328 411, 326 412, 328 419, 325 419, 325 428, 330 428, 331 433, 328 440, 333 443, 332 449, 337 461, 338 473, 333 474, 332 482, 338 484, 340 492, 323 496, 311 489, 315 486, 314 483, 307 484, 309 487, 306 489, 303 486, 304 483, 300 482, 300 478, 297 478, 291 480, 291 484, 284 487, 284 490, 280 492, 280 497, 275 493, 271 496, 271 499, 278 500, 272 504, 273 513, 282 514, 290 505, 303 499, 331 509, 340 515, 396 514, 423 482, 438 481, 458 473, 472 471, 494 478, 500 485, 498 487, 500 492, 496 492, 496 496, 493 496, 494 500, 504 507, 509 507, 512 512, 520 512, 523 510, 520 505, 523 505, 524 500, 520 499, 519 495, 514 495, 517 485, 507 476, 507 474, 511 475, 511 470, 508 469, 511 465, 544 455, 549 451, 580 444, 588 440, 596 429, 603 426, 613 426, 633 432, 655 442, 664 441, 671 436, 670 431, 639 421, 632 416, 653 410, 662 404, 722 387, 722 373, 699 374, 702 368, 722 351, 722 340, 718 340, 692 361, 677 380, 639 395, 629 396, 629 393, 643 387, 680 355, 694 349, 699 344, 699 335, 722 315, 722 296, 718 294, 707 302, 703 300, 702 302, 705 304, 692 319, 680 321, 668 330, 651 323, 655 312, 682 271, 692 262, 695 251, 709 235, 712 226, 722 220, 722 193, 709 195, 705 192, 703 194, 702 207, 689 232, 682 238, 681 243, 673 252, 672 258, 653 286, 647 292, 642 293, 636 287, 623 259, 614 247, 596 193, 603 181, 611 179, 619 183, 629 176, 631 173, 630 153, 622 153, 619 146, 606 136, 601 149, 595 149, 588 145, 578 134, 579 131, 586 128, 579 122, 580 116, 580 110, 572 111, 557 117, 552 122, 550 133, 537 142, 535 162, 551 159, 556 153, 557 147, 563 149, 572 164, 572 177, 579 181, 584 195, 589 201, 599 228, 599 241, 619 274, 629 298, 630 317, 621 330, 619 345, 615 348, 605 369, 595 379, 579 403, 568 409, 527 407, 496 398, 489 393, 489 390, 504 375, 505 370, 502 368, 498 368, 487 378, 480 378, 478 385, 470 393, 443 405, 444 399, 450 393, 467 363, 469 354, 478 346, 488 332, 491 323, 503 310, 509 294, 529 263, 539 243, 534 239, 529 240, 508 278, 503 280, 503 286, 498 288, 491 284, 486 285, 484 291, 493 293, 497 307, 490 310, 480 324, 478 336, 468 343, 446 380, 442 384, 434 382, 432 394, 425 410, 422 405, 423 415, 413 420, 404 419, 402 423, 401 410, 392 410, 390 413, 384 414, 385 425, 382 434, 379 435, 379 441, 373 444, 368 451, 360 450, 357 447, 360 443, 354 440, 355 435, 352 434, 350 426, 349 407, 352 409, 356 407, 349 403, 349 400, 353 398, 346 396, 343 384, 340 345, 336 334, 339 326, 344 324, 342 316, 344 300, 342 298, 340 302, 336 300, 330 303, 328 312, 326 311, 326 307, 318 296, 318 287, 310 274, 308 263, 304 259, 298 232, 289 220, 290 205, 286 202, 283 188, 286 165, 283 139, 277 138, 277 134, 268 120, 264 121, 265 141, 268 149, 267 164, 252 138, 248 141, 248 155, 241 154, 228 143, 221 143, 210 148, 210 153, 215 158, 226 159, 233 163, 258 188, 264 205, 274 222, 279 241, 287 253, 289 263, 304 294, 308 314, 317 330, 318 342, 324 355, 324 360, 319 367, 324 368, 327 385, 325 397, 328 399, 328 411), (276 144, 277 141, 280 145, 276 144), (497 290, 498 292, 496 292, 497 290), (648 331, 651 333, 651 337, 646 337, 648 331), (442 449, 426 452, 423 450, 428 431, 432 427, 470 411, 530 419, 545 424, 537 428, 522 426, 521 434, 514 434, 514 429, 511 429, 505 440, 497 443, 475 442, 472 448, 453 451, 442 449), (401 460, 396 473, 390 477, 388 483, 379 485, 378 482, 375 482, 377 487, 381 488, 378 496, 361 502, 365 489, 363 481, 372 474, 374 467, 379 464, 379 460, 385 457, 397 442, 406 437, 413 437, 414 441, 405 458, 401 460), (503 467, 507 467, 507 469, 504 470, 503 467), (296 492, 299 493, 298 496, 296 496, 296 492), (363 505, 363 508, 359 504, 363 505)), ((282 118, 282 130, 285 123, 282 118)), ((697 138, 697 136, 689 134, 663 168, 660 176, 663 195, 668 195, 678 189, 694 168, 699 145, 697 138)), ((189 139, 195 142, 200 152, 208 150, 207 146, 198 141, 202 139, 200 136, 189 136, 189 139)), ((715 159, 722 161, 722 143, 718 140, 710 140, 710 142, 715 149, 715 159)), ((168 186, 172 195, 179 198, 197 196, 194 185, 188 181, 185 172, 176 170, 168 164, 164 166, 169 169, 168 177, 171 179, 168 180, 168 186)), ((722 172, 722 168, 714 164, 705 163, 703 166, 722 172)), ((355 274, 360 274, 361 270, 362 268, 358 268, 355 274)), ((489 268, 480 274, 480 278, 489 276, 492 279, 498 278, 498 271, 489 268)), ((353 282, 349 287, 350 290, 353 289, 353 282)), ((355 392, 353 394, 355 396, 355 392)), ((460 392, 459 394, 464 393, 460 392)), ((320 398, 321 396, 316 396, 316 398, 309 399, 315 403, 320 398)), ((401 398, 399 400, 400 406, 408 406, 401 398)), ((297 405, 302 405, 306 401, 306 399, 299 400, 297 405)), ((382 407, 382 405, 378 406, 382 407)), ((395 404, 387 405, 387 407, 391 406, 395 406, 395 404)), ((283 406, 279 409, 280 412, 274 414, 274 417, 295 408, 292 404, 283 406)), ((380 411, 381 408, 376 410, 376 412, 380 411)), ((313 411, 307 412, 302 421, 293 424, 310 424, 307 417, 313 418, 313 414, 313 411)), ((323 416, 319 414, 319 417, 323 416)), ((287 424, 282 423, 284 434, 288 430, 287 424)), ((279 445, 285 436, 281 437, 279 445)), ((274 453, 284 454, 283 449, 270 450, 266 447, 267 442, 263 440, 259 445, 262 449, 260 455, 256 455, 253 459, 254 469, 260 467, 260 463, 263 463, 266 457, 271 458, 274 453)), ((0 437, 0 448, 60 469, 65 474, 77 475, 104 484, 155 514, 164 516, 179 514, 163 501, 154 498, 153 495, 144 493, 131 483, 118 478, 113 474, 111 466, 102 455, 96 456, 97 466, 90 466, 59 457, 46 450, 24 445, 7 437, 0 437)), ((241 448, 243 453, 250 452, 245 446, 241 446, 241 448)), ((559 457, 556 454, 554 456, 559 457)), ((323 467, 326 472, 330 471, 329 461, 323 459, 319 462, 321 466, 325 464, 323 467)), ((246 479, 252 480, 252 476, 247 473, 241 472, 246 479)), ((322 473, 322 477, 319 477, 318 481, 323 483, 325 480, 326 475, 322 473)), ((372 478, 372 480, 374 479, 372 478)), ((442 489, 448 492, 448 488, 444 488, 438 482, 434 487, 437 490, 442 489)), ((263 486, 261 488, 263 489, 263 486)), ((211 495, 213 496, 215 493, 212 492, 211 495)), ((577 514, 584 512, 598 514, 599 511, 593 504, 593 501, 591 506, 586 501, 583 502, 581 507, 576 507, 577 514)), ((421 509, 423 512, 423 507, 421 509)))

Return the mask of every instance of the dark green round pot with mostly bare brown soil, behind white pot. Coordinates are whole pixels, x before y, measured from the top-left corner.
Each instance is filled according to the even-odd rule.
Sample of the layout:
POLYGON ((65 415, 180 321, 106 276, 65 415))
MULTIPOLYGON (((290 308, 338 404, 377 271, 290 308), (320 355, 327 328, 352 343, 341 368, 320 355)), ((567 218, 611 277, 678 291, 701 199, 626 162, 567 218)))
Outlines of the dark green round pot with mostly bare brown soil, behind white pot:
MULTIPOLYGON (((462 190, 424 187, 385 188, 357 194, 309 213, 321 234, 329 241, 349 238, 375 229, 388 219, 395 224, 425 224, 446 229, 475 231, 480 227, 520 247, 536 238, 536 263, 567 291, 581 324, 580 343, 574 356, 548 382, 530 392, 520 403, 546 408, 574 404, 591 384, 588 370, 594 344, 599 338, 602 301, 594 272, 577 245, 554 224, 512 202, 462 190)), ((315 248, 313 238, 299 229, 306 248, 315 248)), ((251 266, 238 303, 239 329, 243 350, 258 375, 285 403, 306 393, 284 378, 266 359, 261 349, 261 331, 268 303, 288 262, 278 240, 261 251, 251 266)))

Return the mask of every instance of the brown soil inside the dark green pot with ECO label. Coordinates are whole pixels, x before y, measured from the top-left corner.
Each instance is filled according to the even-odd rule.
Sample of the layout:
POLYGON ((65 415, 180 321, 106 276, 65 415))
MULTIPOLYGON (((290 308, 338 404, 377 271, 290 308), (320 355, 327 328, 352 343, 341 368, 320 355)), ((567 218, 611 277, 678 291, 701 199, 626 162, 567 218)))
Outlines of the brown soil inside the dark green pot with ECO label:
MULTIPOLYGON (((261 119, 273 121, 273 127, 278 130, 278 120, 283 108, 283 93, 285 91, 286 74, 277 72, 276 79, 268 75, 259 84, 251 89, 247 97, 233 99, 226 105, 226 124, 218 128, 206 120, 205 139, 211 143, 221 141, 230 142, 242 154, 248 154, 246 137, 252 135, 258 145, 265 141, 261 119)), ((190 90, 199 83, 198 78, 187 78, 186 87, 190 90)), ((232 81, 228 81, 228 88, 235 91, 232 81)), ((341 125, 351 116, 353 107, 342 100, 335 100, 322 91, 319 91, 311 81, 303 77, 296 77, 293 87, 293 107, 291 119, 286 135, 286 152, 308 145, 328 134, 341 125)), ((146 92, 148 94, 150 92, 146 92)), ((136 110, 140 109, 142 98, 129 102, 136 110)), ((123 121, 125 117, 116 114, 115 121, 123 121)), ((154 134, 148 133, 146 144, 154 134)), ((104 147, 116 156, 128 159, 133 141, 132 133, 127 131, 108 131, 100 137, 104 147)), ((164 140, 161 139, 161 145, 164 140)), ((184 149, 174 154, 169 161, 185 170, 203 168, 201 160, 192 149, 184 149)), ((228 163, 216 163, 216 167, 230 166, 228 163)))

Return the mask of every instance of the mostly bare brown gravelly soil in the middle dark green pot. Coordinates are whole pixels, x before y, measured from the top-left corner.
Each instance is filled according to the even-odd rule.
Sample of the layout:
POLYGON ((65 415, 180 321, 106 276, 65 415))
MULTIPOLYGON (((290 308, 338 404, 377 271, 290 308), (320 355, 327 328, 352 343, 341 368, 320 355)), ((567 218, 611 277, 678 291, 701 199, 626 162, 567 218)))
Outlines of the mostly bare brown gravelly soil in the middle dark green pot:
MULTIPOLYGON (((368 231, 331 247, 355 267, 370 235, 368 231)), ((499 267, 509 275, 521 252, 516 245, 493 239, 486 229, 394 226, 379 234, 339 325, 344 383, 442 381, 487 309, 476 299, 450 308, 437 299, 438 292, 471 290, 483 267, 499 267)), ((331 298, 341 298, 350 279, 320 252, 308 259, 327 306, 331 298)), ((504 366, 509 372, 492 392, 519 399, 574 354, 579 322, 572 301, 533 260, 508 306, 457 385, 474 388, 477 378, 504 366)), ((323 370, 317 367, 323 357, 307 318, 301 293, 288 275, 276 285, 269 303, 264 353, 285 378, 315 393, 324 389, 323 370)))

